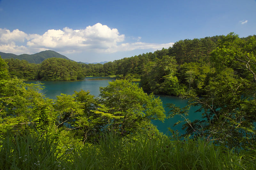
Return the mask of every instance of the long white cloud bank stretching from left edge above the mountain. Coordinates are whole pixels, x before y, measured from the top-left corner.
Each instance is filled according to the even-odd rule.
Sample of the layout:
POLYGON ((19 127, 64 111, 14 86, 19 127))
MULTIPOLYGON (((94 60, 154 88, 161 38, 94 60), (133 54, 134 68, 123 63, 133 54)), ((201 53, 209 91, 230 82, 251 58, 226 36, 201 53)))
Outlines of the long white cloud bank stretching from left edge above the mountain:
POLYGON ((0 51, 7 53, 39 52, 54 50, 61 53, 97 52, 114 53, 132 51, 135 49, 162 49, 173 43, 154 44, 139 42, 125 43, 125 35, 120 34, 116 28, 97 23, 85 29, 73 30, 65 27, 62 30, 50 29, 44 34, 27 34, 19 29, 13 31, 0 28, 0 51), (20 44, 20 45, 17 45, 20 44))

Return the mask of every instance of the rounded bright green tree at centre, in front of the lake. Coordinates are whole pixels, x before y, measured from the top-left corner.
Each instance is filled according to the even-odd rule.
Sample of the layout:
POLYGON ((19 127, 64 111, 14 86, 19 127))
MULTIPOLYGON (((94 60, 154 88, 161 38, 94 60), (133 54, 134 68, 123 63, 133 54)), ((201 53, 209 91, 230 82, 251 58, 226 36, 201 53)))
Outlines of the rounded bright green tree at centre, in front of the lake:
POLYGON ((164 121, 166 117, 159 98, 148 95, 128 80, 116 80, 100 87, 100 97, 101 104, 93 112, 105 120, 102 126, 105 129, 128 134, 143 125, 145 128, 150 120, 164 121))

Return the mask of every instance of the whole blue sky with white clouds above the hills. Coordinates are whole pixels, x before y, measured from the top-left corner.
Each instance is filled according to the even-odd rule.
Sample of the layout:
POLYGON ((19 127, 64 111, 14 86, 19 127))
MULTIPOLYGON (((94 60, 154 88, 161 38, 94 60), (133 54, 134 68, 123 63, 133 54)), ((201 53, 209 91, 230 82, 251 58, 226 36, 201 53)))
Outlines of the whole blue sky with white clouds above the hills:
POLYGON ((0 0, 0 51, 113 61, 184 39, 256 34, 256 0, 0 0))

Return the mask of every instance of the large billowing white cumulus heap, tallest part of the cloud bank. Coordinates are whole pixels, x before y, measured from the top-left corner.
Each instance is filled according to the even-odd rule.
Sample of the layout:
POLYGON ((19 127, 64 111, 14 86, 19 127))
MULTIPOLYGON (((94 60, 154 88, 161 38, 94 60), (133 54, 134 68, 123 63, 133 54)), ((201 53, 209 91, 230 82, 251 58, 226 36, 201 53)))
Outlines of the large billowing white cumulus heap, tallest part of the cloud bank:
POLYGON ((73 30, 65 27, 63 30, 48 30, 43 35, 28 41, 29 47, 57 48, 60 51, 108 49, 124 41, 124 34, 119 35, 117 29, 97 23, 86 29, 73 30))

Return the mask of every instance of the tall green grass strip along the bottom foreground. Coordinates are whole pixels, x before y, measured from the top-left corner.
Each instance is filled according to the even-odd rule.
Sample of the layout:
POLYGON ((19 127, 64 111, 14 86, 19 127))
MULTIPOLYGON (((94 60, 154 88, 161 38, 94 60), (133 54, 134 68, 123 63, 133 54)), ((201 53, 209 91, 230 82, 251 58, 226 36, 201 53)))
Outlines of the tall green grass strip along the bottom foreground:
POLYGON ((154 134, 121 138, 102 133, 81 145, 65 144, 57 135, 27 133, 1 139, 0 169, 237 170, 256 169, 256 160, 255 152, 237 154, 203 139, 180 141, 154 134))

